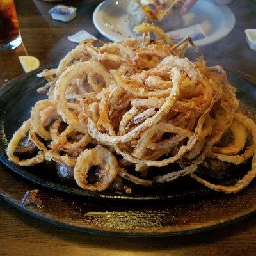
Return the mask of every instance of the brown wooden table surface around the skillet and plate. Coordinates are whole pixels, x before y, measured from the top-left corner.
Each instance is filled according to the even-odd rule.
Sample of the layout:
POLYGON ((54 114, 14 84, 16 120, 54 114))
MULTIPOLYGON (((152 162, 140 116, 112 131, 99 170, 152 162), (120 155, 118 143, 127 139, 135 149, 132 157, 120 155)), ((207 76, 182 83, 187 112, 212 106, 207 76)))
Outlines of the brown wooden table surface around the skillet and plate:
MULTIPOLYGON (((44 66, 59 61, 76 46, 67 36, 86 29, 105 39, 95 29, 92 13, 100 1, 65 1, 77 7, 77 17, 68 23, 47 14, 54 3, 41 0, 15 1, 23 43, 13 51, 0 52, 0 84, 23 74, 18 56, 31 55, 44 66)), ((233 31, 212 45, 202 47, 210 65, 222 65, 256 84, 256 52, 248 48, 244 29, 255 28, 254 0, 230 4, 236 15, 233 31)), ((236 224, 190 236, 162 239, 118 238, 83 234, 18 211, 0 201, 0 255, 255 255, 255 215, 236 224)))

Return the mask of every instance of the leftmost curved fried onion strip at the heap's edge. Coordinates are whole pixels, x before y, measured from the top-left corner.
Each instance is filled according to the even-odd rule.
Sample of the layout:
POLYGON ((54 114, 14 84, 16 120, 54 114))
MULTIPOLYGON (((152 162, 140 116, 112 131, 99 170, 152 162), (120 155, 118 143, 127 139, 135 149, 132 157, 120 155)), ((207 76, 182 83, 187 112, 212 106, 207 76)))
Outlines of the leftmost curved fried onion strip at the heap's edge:
POLYGON ((26 160, 20 160, 19 157, 14 156, 19 141, 26 137, 26 134, 31 129, 31 127, 32 125, 30 119, 24 122, 22 126, 13 134, 6 150, 8 158, 13 161, 13 163, 19 164, 20 166, 31 166, 44 161, 44 152, 42 151, 39 151, 37 156, 26 160))

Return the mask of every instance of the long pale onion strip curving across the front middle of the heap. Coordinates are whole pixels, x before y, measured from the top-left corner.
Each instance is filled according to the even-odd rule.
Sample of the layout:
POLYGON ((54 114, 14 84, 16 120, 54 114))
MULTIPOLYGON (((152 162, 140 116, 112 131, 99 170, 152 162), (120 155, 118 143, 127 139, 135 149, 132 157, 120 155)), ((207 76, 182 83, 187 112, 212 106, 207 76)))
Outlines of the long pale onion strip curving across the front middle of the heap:
POLYGON ((157 111, 157 113, 145 120, 142 124, 135 127, 132 131, 127 132, 127 134, 121 136, 110 136, 108 134, 103 134, 99 132, 92 120, 88 118, 88 132, 95 140, 100 141, 101 143, 107 145, 115 145, 116 143, 125 143, 127 141, 131 141, 133 138, 136 138, 138 134, 145 131, 148 127, 157 124, 163 119, 165 115, 168 114, 173 104, 177 100, 177 96, 179 94, 179 86, 180 86, 180 72, 177 68, 173 68, 173 88, 170 96, 166 98, 163 106, 157 111))

